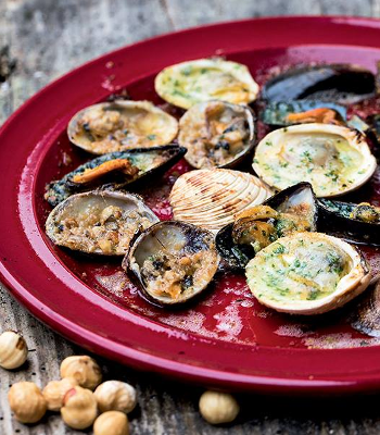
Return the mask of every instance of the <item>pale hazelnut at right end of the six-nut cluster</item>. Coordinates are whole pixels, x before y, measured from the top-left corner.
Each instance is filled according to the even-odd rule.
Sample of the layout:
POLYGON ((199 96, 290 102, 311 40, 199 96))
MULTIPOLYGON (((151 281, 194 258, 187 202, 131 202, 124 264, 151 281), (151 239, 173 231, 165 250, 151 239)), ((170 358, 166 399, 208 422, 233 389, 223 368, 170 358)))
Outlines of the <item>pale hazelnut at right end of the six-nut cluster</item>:
POLYGON ((122 411, 127 414, 136 407, 136 389, 125 382, 103 382, 93 394, 100 412, 122 411))

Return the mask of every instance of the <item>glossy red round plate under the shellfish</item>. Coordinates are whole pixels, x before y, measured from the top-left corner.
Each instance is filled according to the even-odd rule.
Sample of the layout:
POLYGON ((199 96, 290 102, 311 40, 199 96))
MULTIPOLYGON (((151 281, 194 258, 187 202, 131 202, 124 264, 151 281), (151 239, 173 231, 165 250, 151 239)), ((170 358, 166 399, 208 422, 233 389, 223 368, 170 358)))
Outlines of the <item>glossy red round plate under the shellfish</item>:
MULTIPOLYGON (((355 332, 344 311, 314 321, 276 314, 254 300, 243 276, 232 274, 218 277, 187 309, 160 310, 137 294, 119 260, 73 254, 45 235, 45 184, 88 159, 67 140, 71 116, 125 88, 132 99, 162 103, 153 88, 161 69, 215 54, 245 63, 258 80, 267 69, 300 62, 353 62, 375 71, 380 22, 288 17, 211 25, 123 48, 46 87, 0 133, 2 279, 53 330, 138 369, 262 393, 380 389, 379 341, 355 332)), ((185 170, 178 164, 141 192, 162 219, 170 216, 168 187, 185 170)), ((380 254, 369 257, 376 266, 380 254)))

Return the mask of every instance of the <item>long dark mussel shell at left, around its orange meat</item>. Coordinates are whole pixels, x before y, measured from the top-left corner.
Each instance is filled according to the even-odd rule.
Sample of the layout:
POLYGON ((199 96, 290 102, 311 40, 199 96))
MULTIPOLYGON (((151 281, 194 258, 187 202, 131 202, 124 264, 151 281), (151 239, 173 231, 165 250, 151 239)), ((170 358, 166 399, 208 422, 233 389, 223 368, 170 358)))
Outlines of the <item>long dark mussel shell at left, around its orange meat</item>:
POLYGON ((55 207, 71 195, 91 190, 105 184, 116 183, 117 188, 129 188, 132 185, 135 186, 164 174, 186 154, 186 148, 176 145, 167 145, 154 148, 136 148, 128 151, 116 151, 100 156, 81 164, 60 181, 49 183, 46 187, 45 199, 50 206, 55 207), (134 166, 137 166, 140 172, 132 178, 115 176, 113 173, 110 176, 98 178, 90 185, 75 185, 71 183, 75 175, 81 174, 85 170, 97 167, 113 159, 127 159, 134 166))

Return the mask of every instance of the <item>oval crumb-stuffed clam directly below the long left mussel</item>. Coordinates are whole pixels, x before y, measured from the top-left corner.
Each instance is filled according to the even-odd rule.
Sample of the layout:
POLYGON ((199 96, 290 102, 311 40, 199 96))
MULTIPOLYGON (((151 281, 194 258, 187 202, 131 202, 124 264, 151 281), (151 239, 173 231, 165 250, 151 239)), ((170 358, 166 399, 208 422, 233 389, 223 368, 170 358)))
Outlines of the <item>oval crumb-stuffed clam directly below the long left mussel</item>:
POLYGON ((137 232, 159 217, 136 195, 92 190, 73 195, 48 216, 46 231, 54 245, 102 256, 124 256, 137 232))

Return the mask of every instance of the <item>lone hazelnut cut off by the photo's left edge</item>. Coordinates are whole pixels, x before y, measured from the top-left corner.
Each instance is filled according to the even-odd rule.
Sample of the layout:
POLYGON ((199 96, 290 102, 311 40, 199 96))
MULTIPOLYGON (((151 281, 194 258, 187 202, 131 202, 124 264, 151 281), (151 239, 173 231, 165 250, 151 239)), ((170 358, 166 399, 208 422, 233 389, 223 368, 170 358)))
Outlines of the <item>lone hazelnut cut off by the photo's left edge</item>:
POLYGON ((24 364, 28 348, 24 338, 13 331, 0 335, 0 365, 4 369, 17 369, 24 364))

